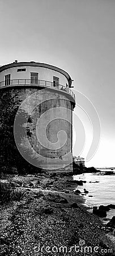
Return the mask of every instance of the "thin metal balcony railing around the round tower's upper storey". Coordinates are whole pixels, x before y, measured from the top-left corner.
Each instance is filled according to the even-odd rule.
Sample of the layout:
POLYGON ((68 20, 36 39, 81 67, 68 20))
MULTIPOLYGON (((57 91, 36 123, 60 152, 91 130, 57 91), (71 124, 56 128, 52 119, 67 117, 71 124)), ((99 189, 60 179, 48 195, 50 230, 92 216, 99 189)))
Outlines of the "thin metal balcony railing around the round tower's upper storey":
POLYGON ((37 85, 37 86, 44 86, 44 87, 49 87, 49 88, 58 89, 58 90, 64 90, 65 92, 71 94, 71 96, 75 100, 75 94, 70 88, 60 84, 56 84, 56 83, 54 84, 54 82, 49 82, 44 80, 32 81, 31 79, 13 79, 13 80, 6 80, 6 81, 0 82, 0 87, 12 86, 12 85, 37 85))

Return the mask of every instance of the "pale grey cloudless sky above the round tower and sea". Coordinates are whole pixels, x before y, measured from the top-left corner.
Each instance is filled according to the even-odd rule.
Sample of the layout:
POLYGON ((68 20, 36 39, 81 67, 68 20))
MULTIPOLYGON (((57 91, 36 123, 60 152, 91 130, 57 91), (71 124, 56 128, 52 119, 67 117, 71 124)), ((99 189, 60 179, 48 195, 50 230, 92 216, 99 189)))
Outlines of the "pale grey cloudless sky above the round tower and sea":
POLYGON ((95 107, 91 114, 97 112, 101 124, 99 147, 86 166, 115 166, 115 1, 0 0, 0 22, 0 65, 33 60, 68 72, 74 80, 74 114, 86 133, 78 152, 81 125, 73 116, 73 155, 86 159, 97 127, 77 105, 78 91, 95 107))

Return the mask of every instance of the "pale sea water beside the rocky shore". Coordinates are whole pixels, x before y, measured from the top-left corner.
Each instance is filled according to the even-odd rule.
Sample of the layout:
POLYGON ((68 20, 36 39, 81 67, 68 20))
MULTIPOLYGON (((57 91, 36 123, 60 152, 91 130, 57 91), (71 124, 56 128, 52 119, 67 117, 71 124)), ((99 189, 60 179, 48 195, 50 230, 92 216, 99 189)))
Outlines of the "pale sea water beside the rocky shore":
MULTIPOLYGON (((84 195, 84 198, 86 199, 85 204, 91 208, 91 211, 93 206, 115 204, 115 175, 100 175, 97 172, 96 174, 74 175, 73 179, 87 181, 83 183, 83 186, 78 186, 77 189, 83 193, 84 188, 86 188, 89 192, 84 195)), ((104 222, 108 222, 113 216, 115 216, 115 209, 110 209, 104 222)))

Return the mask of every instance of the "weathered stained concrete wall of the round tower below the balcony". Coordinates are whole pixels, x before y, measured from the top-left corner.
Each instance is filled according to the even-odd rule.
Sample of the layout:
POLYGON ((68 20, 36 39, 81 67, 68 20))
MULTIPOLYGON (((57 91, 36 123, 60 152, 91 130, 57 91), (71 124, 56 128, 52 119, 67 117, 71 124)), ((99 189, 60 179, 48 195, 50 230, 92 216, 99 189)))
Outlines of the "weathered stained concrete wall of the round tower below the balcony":
MULTIPOLYGON (((24 88, 24 86, 19 88, 15 87, 12 89, 4 88, 1 90, 3 91, 3 94, 5 94, 6 90, 10 90, 12 97, 14 97, 14 100, 16 102, 18 100, 20 104, 22 104, 22 102, 33 93, 37 92, 35 100, 33 101, 33 98, 29 97, 28 100, 25 101, 24 105, 26 112, 31 116, 31 122, 28 122, 28 141, 33 148, 32 159, 37 158, 37 163, 39 164, 40 168, 42 168, 42 164, 43 166, 45 164, 46 170, 48 170, 47 166, 49 167, 49 169, 50 166, 52 166, 52 160, 57 159, 57 162, 54 162, 54 170, 60 164, 60 171, 73 171, 72 164, 70 164, 69 166, 66 164, 68 163, 68 158, 66 158, 66 155, 69 153, 70 162, 73 162, 71 127, 72 106, 71 102, 67 98, 67 94, 56 92, 55 90, 51 89, 42 90, 40 88, 24 88), (49 97, 50 100, 48 100, 49 97), (29 113, 29 106, 33 106, 33 110, 31 113, 29 113), (38 125, 37 122, 39 121, 39 119, 40 124, 38 125), (45 126, 46 137, 48 139, 47 142, 43 132, 45 126), (58 133, 59 131, 64 131, 64 133, 58 133), (38 141, 38 138, 36 136, 37 132, 39 133, 38 135, 40 135, 40 141, 42 142, 42 144, 38 141), (59 135, 59 141, 57 134, 59 135), (50 142, 54 144, 58 142, 58 148, 50 148, 50 142), (41 158, 38 157, 37 154, 42 156, 44 160, 41 160, 41 158)), ((22 145, 23 148, 25 147, 25 150, 28 148, 27 141, 24 137, 22 137, 22 145)))

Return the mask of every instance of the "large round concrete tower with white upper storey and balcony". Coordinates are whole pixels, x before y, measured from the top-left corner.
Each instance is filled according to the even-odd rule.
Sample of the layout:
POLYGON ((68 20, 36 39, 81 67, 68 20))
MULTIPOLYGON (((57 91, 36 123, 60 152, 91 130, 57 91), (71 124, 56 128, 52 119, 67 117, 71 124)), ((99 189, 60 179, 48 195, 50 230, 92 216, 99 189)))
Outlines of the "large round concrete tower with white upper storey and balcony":
MULTIPOLYGON (((75 95, 71 83, 66 71, 49 64, 15 60, 0 67, 2 95, 5 98, 9 92, 14 103, 19 104, 19 108, 23 106, 24 112, 31 117, 28 138, 22 134, 18 149, 23 147, 24 152, 29 150, 29 157, 26 154, 24 157, 33 166, 46 170, 73 171, 72 119, 75 95), (38 140, 35 127, 39 120, 38 140)), ((23 156, 23 152, 19 151, 23 156)))

